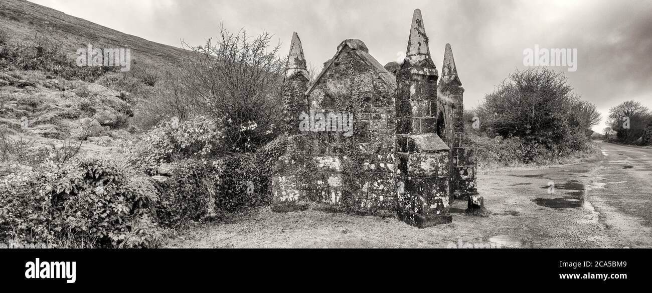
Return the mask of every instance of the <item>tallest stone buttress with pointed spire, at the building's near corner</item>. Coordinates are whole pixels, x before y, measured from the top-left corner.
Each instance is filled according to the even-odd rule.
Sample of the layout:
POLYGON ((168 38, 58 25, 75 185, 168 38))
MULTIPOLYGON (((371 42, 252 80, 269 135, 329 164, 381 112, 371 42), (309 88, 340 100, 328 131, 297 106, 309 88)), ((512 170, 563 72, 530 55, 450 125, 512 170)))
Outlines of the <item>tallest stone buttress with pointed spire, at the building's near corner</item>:
POLYGON ((437 135, 437 69, 418 9, 396 79, 396 213, 417 227, 449 223, 449 147, 437 135))

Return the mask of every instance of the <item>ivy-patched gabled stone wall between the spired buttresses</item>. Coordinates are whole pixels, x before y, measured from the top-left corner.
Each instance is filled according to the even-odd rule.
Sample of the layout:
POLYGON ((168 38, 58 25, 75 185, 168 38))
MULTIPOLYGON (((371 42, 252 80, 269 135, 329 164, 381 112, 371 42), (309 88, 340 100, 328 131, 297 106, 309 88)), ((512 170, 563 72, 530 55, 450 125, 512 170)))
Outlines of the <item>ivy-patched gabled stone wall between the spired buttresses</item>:
POLYGON ((308 89, 309 123, 291 138, 291 149, 277 164, 275 210, 312 203, 318 209, 394 213, 395 88, 394 77, 363 42, 346 40, 338 46, 308 89), (321 124, 329 114, 345 127, 321 124))

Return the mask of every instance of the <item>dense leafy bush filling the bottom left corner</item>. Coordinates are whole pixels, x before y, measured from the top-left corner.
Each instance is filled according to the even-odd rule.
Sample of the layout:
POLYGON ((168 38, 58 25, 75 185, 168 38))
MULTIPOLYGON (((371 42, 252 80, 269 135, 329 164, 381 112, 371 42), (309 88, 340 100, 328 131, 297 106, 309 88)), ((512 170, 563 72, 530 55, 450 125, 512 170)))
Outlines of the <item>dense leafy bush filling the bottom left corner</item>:
POLYGON ((157 201, 148 179, 128 179, 111 162, 43 164, 0 182, 0 238, 65 247, 153 247, 157 201))

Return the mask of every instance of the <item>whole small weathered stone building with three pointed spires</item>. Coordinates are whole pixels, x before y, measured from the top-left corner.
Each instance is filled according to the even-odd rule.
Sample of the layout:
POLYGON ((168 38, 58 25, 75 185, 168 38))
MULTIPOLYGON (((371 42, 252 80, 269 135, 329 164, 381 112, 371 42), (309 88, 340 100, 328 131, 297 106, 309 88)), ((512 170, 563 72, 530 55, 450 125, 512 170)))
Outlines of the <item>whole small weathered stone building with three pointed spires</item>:
POLYGON ((310 83, 295 32, 273 209, 396 215, 417 227, 451 222, 454 199, 482 213, 463 94, 448 44, 439 78, 418 9, 404 62, 382 66, 361 40, 344 40, 310 83))

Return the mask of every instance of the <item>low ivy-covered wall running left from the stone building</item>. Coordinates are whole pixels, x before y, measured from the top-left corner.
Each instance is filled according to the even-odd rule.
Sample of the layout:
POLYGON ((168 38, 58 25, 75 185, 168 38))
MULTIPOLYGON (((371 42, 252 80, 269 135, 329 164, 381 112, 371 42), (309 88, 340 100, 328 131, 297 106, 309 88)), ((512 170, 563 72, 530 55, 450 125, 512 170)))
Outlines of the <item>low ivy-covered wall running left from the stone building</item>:
POLYGON ((271 170, 285 149, 278 138, 255 153, 221 160, 185 159, 173 163, 156 214, 166 227, 224 216, 271 202, 271 170))

